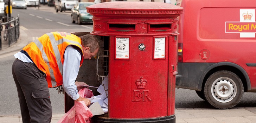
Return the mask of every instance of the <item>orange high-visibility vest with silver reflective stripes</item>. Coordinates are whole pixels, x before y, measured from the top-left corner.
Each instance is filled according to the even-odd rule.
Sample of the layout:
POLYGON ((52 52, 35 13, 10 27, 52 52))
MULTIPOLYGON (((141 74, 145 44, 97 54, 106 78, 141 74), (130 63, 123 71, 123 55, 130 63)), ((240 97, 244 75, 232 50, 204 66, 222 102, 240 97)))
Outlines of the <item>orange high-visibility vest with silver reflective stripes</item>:
POLYGON ((23 48, 38 69, 46 74, 48 88, 54 88, 63 83, 64 53, 69 45, 76 46, 81 51, 81 66, 84 59, 81 39, 74 34, 47 33, 23 48))

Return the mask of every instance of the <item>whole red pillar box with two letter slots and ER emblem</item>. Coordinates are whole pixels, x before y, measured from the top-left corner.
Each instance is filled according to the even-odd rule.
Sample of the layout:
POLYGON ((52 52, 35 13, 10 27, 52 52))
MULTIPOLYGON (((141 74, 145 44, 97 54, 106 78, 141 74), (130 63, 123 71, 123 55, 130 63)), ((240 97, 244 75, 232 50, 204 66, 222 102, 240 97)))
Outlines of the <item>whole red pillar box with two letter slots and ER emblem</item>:
POLYGON ((104 2, 87 7, 91 34, 108 53, 108 114, 93 123, 175 122, 177 17, 162 2, 104 2))

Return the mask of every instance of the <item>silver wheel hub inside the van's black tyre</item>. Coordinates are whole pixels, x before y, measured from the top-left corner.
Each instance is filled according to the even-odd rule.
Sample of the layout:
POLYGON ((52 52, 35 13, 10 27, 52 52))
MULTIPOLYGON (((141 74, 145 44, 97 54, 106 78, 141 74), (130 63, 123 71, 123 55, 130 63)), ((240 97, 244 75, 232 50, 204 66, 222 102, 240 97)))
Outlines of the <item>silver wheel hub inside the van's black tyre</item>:
POLYGON ((211 93, 216 101, 227 103, 232 101, 236 96, 237 86, 232 79, 228 77, 220 77, 213 82, 211 93))

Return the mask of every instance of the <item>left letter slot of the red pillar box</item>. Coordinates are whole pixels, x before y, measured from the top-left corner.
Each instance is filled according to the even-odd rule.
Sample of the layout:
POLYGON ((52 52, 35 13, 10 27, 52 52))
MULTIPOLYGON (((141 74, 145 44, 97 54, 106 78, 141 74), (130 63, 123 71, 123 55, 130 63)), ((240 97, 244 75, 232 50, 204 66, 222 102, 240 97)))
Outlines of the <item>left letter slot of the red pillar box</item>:
POLYGON ((135 24, 109 24, 109 30, 134 31, 135 30, 135 24))

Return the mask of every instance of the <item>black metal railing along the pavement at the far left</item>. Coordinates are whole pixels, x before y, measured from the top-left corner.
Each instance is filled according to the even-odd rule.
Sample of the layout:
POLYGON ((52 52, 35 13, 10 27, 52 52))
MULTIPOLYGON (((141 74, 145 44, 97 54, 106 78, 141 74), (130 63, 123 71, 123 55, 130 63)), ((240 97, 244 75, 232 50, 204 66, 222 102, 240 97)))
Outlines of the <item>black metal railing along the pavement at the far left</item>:
POLYGON ((20 35, 19 15, 16 18, 7 18, 7 22, 0 23, 0 32, 0 50, 16 43, 20 35))

